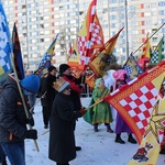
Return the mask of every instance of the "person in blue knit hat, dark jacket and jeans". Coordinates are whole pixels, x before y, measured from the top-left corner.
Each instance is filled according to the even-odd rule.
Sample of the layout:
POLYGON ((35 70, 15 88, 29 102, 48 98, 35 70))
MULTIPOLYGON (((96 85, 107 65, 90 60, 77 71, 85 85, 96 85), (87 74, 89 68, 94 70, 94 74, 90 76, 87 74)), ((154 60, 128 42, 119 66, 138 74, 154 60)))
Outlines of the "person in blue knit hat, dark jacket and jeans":
MULTIPOLYGON (((28 106, 25 95, 37 92, 40 78, 30 75, 19 82, 28 106)), ((26 129, 28 123, 34 125, 32 119, 26 117, 16 80, 10 75, 0 95, 0 145, 12 165, 25 165, 24 140, 37 139, 36 130, 26 129)))

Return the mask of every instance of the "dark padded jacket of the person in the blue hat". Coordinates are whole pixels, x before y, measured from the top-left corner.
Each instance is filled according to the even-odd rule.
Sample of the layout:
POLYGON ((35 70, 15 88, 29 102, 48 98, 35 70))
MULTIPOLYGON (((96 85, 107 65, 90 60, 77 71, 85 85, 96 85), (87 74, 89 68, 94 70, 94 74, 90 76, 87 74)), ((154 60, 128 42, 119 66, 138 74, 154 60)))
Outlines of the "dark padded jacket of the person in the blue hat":
POLYGON ((0 95, 0 142, 21 142, 26 136, 26 117, 14 79, 9 77, 0 95))

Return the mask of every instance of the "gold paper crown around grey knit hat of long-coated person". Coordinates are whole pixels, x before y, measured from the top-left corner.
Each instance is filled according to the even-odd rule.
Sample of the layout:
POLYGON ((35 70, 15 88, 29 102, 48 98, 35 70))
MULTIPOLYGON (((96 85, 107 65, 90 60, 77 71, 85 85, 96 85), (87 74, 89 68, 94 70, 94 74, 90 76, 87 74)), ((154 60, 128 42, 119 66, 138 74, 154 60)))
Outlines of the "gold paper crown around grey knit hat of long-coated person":
POLYGON ((53 87, 58 91, 63 92, 66 88, 68 88, 70 84, 66 81, 63 77, 59 77, 54 84, 53 87))

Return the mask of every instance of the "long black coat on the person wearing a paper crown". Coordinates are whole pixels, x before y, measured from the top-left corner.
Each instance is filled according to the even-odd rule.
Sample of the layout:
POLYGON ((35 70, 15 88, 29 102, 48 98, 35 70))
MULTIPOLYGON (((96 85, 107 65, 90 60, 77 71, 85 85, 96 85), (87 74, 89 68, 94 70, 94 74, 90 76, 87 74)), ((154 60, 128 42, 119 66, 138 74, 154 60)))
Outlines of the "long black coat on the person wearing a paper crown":
POLYGON ((76 157, 75 121, 80 118, 79 111, 74 111, 70 96, 57 94, 52 109, 50 124, 48 157, 57 163, 67 163, 76 157))

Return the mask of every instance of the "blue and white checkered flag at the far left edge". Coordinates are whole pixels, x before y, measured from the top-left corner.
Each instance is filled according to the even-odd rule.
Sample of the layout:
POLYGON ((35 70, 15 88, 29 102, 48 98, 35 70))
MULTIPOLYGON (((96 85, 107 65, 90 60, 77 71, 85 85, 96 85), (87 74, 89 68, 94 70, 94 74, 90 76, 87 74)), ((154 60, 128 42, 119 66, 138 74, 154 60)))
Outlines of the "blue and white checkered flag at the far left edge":
POLYGON ((8 21, 2 3, 0 2, 0 86, 6 81, 8 74, 12 73, 10 38, 8 21))

